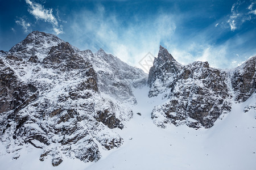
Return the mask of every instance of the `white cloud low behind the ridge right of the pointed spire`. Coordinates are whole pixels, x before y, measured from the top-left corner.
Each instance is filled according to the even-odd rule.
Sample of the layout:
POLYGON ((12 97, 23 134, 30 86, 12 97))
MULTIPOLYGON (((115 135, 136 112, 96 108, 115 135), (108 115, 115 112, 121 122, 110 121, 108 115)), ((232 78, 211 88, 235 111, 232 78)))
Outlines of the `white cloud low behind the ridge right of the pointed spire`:
POLYGON ((195 36, 186 40, 182 46, 176 45, 168 49, 183 65, 194 61, 208 61, 211 67, 231 69, 241 65, 250 56, 256 55, 255 46, 251 44, 254 33, 250 31, 238 34, 217 45, 210 43, 211 35, 209 31, 205 31, 205 35, 200 35, 201 38, 195 36))

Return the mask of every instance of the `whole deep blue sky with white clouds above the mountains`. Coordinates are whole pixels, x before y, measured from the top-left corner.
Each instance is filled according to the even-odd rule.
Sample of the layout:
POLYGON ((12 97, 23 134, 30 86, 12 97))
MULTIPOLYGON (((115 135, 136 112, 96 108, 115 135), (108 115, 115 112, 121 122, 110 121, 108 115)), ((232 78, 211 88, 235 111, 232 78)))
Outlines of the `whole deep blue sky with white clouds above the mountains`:
POLYGON ((182 64, 232 68, 256 55, 256 1, 0 0, 0 50, 31 31, 130 65, 164 46, 182 64))

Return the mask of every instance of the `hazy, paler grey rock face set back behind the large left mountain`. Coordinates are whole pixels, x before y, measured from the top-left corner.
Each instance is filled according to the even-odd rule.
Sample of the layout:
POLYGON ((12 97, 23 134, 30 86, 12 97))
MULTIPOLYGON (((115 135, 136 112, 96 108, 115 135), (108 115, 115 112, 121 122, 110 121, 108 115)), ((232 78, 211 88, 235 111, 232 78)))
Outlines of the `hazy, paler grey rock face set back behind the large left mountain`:
POLYGON ((127 65, 102 49, 95 54, 85 50, 81 52, 81 56, 93 63, 101 92, 125 103, 137 103, 132 88, 147 84, 147 75, 141 69, 127 65))

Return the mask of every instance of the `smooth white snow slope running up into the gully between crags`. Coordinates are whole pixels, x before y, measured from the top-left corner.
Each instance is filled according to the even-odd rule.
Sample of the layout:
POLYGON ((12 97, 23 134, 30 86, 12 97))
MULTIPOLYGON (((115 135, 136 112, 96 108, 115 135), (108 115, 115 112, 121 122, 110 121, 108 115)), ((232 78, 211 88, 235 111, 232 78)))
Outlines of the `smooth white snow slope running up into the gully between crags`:
MULTIPOLYGON (((166 129, 152 124, 151 111, 162 99, 148 98, 148 87, 134 90, 138 104, 133 106, 134 117, 126 128, 113 129, 124 139, 120 148, 106 151, 96 163, 65 159, 58 167, 51 160, 40 162, 40 151, 27 148, 20 158, 0 153, 0 169, 247 169, 256 167, 256 95, 245 103, 233 103, 232 111, 224 114, 210 129, 168 125, 166 129), (153 104, 154 103, 154 104, 153 104), (141 113, 141 116, 136 114, 141 113)), ((0 145, 0 150, 1 149, 0 145)))

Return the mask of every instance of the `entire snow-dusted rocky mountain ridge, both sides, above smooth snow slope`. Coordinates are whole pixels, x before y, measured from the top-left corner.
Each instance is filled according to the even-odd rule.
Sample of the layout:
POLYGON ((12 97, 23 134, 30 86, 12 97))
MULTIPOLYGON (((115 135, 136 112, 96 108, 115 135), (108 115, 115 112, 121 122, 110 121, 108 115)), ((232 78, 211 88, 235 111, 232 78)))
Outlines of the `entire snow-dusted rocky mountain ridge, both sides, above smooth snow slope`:
POLYGON ((125 139, 113 129, 134 117, 134 90, 147 85, 148 96, 159 100, 151 103, 152 122, 162 128, 210 128, 230 112, 233 100, 242 103, 255 94, 255 57, 225 71, 200 61, 183 66, 160 46, 147 75, 103 49, 79 50, 39 31, 1 51, 0 65, 0 141, 6 153, 18 159, 32 145, 53 166, 65 158, 96 162, 102 150, 121 147, 125 139))

